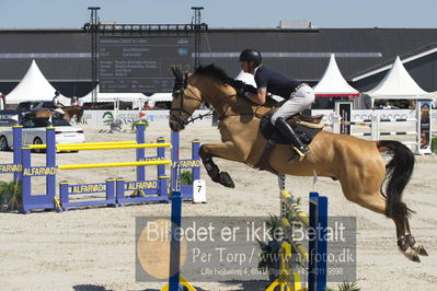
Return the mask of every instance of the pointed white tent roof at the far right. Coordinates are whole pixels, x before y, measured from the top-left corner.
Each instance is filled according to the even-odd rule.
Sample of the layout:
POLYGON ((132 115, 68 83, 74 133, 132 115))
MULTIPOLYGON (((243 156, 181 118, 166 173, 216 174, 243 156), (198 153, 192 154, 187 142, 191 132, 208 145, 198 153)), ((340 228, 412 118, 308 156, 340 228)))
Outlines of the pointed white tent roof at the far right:
POLYGON ((432 98, 433 94, 417 85, 396 57, 390 71, 372 90, 366 92, 372 100, 417 100, 432 98))

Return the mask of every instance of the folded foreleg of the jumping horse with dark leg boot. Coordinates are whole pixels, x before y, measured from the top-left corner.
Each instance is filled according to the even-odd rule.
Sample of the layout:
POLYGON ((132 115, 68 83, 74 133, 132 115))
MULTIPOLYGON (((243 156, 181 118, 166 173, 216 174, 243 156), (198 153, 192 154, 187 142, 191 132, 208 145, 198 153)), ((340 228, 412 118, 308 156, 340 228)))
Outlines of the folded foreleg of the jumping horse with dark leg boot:
POLYGON ((202 144, 199 155, 211 179, 225 187, 234 188, 235 185, 227 172, 220 172, 212 158, 222 158, 231 161, 241 161, 239 151, 232 142, 202 144))

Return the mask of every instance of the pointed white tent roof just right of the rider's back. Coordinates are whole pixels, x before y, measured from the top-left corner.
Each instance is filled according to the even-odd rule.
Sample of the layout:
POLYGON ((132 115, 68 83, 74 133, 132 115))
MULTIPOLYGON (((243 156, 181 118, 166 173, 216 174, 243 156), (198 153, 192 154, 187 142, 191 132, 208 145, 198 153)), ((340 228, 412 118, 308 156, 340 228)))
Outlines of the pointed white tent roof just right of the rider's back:
POLYGON ((340 72, 334 54, 331 54, 330 63, 322 79, 313 88, 315 96, 334 97, 334 96, 358 96, 359 92, 352 88, 340 72))

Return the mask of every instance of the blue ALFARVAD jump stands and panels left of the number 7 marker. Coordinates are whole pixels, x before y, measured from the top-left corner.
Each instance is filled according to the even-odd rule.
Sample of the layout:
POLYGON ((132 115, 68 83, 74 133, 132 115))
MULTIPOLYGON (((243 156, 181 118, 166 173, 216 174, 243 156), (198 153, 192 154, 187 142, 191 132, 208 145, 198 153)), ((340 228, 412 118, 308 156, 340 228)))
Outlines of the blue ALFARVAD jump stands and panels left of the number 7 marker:
MULTIPOLYGON (((56 173, 61 167, 67 165, 56 164, 57 147, 55 140, 55 128, 48 127, 46 129, 46 163, 44 166, 32 166, 31 151, 35 146, 22 147, 22 127, 13 127, 13 163, 0 164, 0 173, 13 173, 15 181, 22 182, 22 209, 21 212, 28 213, 36 209, 53 209, 57 211, 67 210, 71 207, 87 207, 94 205, 122 206, 126 203, 149 202, 149 201, 169 201, 168 185, 174 185, 175 176, 168 176, 165 174, 165 149, 159 143, 165 143, 163 138, 157 140, 157 154, 153 156, 145 155, 145 148, 140 144, 147 146, 145 142, 145 125, 138 125, 137 140, 131 148, 136 149, 136 162, 131 166, 136 166, 136 181, 125 181, 123 177, 108 178, 105 183, 70 185, 62 181, 59 183, 59 199, 56 195, 56 173), (139 146, 138 146, 139 144, 139 146), (157 164, 154 164, 154 161, 157 164), (157 166, 157 179, 146 179, 146 166, 157 166), (45 176, 46 191, 44 194, 32 195, 32 177, 45 176), (104 193, 105 199, 90 200, 90 201, 70 201, 70 196, 80 197, 80 195, 90 195, 104 193)), ((177 151, 175 159, 179 159, 180 137, 179 133, 172 132, 172 152, 177 151)), ((111 143, 111 142, 108 142, 111 143)), ((41 147, 41 146, 39 146, 41 147)), ((72 146, 74 147, 74 146, 72 146)), ((91 146, 90 146, 91 147, 91 146)), ((100 146, 94 146, 99 150, 100 146)), ((129 147, 129 146, 125 146, 129 147)), ((153 146, 151 146, 153 147, 153 146)), ((147 147, 147 148, 151 148, 147 147)), ((168 147, 168 146, 165 146, 168 147)), ((92 148, 92 147, 91 147, 92 148)), ((102 147, 102 150, 105 147, 102 147)), ((61 148, 59 148, 61 149, 61 148)), ((193 179, 200 178, 200 160, 198 158, 199 141, 194 140, 192 143, 192 159, 180 161, 183 168, 191 168, 193 171, 193 179)), ((179 161, 179 160, 177 160, 179 161)), ((168 161, 173 167, 177 161, 168 161)), ((116 163, 114 163, 116 164, 116 163)), ((79 165, 80 166, 80 165, 79 165)), ((71 167, 72 168, 72 167, 71 167)), ((173 170, 173 168, 172 168, 173 170)), ((173 172, 173 171, 171 171, 173 172)), ((193 199, 193 185, 184 185, 182 188, 184 199, 193 199)))

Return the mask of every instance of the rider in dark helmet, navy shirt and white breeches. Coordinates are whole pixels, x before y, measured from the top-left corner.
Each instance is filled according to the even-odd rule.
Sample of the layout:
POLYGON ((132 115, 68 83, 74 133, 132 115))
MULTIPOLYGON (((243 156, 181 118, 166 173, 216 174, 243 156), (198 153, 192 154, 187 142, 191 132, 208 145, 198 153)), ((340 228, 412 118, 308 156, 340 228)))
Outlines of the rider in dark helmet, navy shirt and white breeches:
MULTIPOLYGON (((299 160, 302 160, 304 155, 310 153, 310 149, 300 141, 286 120, 288 117, 310 107, 311 103, 314 102, 314 91, 306 83, 263 66, 261 53, 256 49, 244 49, 240 54, 239 60, 241 69, 255 78, 256 93, 245 92, 249 100, 263 105, 266 102, 267 92, 287 100, 272 116, 271 121, 291 141, 294 149, 299 154, 299 160)), ((291 161, 295 160, 291 159, 291 161)))

